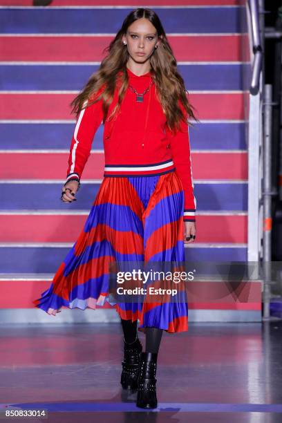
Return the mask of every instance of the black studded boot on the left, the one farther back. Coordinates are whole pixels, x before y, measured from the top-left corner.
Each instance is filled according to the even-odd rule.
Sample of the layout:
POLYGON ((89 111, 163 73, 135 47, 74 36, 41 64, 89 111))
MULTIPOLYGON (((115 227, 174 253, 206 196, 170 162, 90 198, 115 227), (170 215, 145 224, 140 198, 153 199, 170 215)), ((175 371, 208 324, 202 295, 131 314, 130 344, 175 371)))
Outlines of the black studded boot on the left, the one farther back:
POLYGON ((140 354, 142 353, 142 344, 138 337, 132 344, 124 341, 124 359, 122 361, 122 375, 120 383, 124 389, 137 389, 138 387, 138 369, 140 354))

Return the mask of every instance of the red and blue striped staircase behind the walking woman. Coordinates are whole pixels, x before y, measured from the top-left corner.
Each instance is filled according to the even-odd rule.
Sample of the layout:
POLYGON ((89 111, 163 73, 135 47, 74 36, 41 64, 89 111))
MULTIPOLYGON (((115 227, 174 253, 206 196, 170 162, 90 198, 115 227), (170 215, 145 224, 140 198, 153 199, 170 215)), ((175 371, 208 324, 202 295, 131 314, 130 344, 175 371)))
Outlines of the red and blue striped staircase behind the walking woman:
MULTIPOLYGON (((75 126, 69 104, 135 3, 140 7, 129 0, 53 0, 46 7, 0 0, 1 321, 118 321, 110 307, 65 309, 53 320, 32 300, 49 287, 75 243, 103 177, 101 126, 77 202, 59 200, 75 126)), ((189 130, 197 239, 186 248, 187 261, 247 261, 251 64, 245 1, 150 4, 200 119, 189 130)), ((224 285, 191 285, 189 321, 260 321, 259 283, 241 284, 236 299, 224 285)))

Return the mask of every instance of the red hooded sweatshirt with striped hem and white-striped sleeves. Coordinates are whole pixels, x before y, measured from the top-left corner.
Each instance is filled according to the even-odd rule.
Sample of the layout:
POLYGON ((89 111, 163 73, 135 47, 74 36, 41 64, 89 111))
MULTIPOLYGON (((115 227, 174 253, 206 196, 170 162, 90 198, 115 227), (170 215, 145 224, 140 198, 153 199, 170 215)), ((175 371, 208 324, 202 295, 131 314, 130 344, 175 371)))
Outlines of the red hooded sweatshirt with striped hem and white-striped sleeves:
MULTIPOLYGON (((104 177, 162 175, 176 170, 185 193, 184 220, 195 221, 196 198, 191 172, 189 126, 180 121, 180 131, 172 135, 165 127, 166 117, 156 95, 151 71, 135 75, 126 68, 129 85, 144 94, 143 102, 136 101, 135 92, 128 87, 120 106, 120 113, 104 124, 104 177)), ((118 100, 118 86, 108 116, 118 100)), ((87 103, 87 102, 86 102, 87 103)), ((180 108, 187 113, 179 102, 180 108)), ((83 109, 77 118, 66 180, 80 180, 91 153, 93 138, 102 124, 102 100, 83 109)))

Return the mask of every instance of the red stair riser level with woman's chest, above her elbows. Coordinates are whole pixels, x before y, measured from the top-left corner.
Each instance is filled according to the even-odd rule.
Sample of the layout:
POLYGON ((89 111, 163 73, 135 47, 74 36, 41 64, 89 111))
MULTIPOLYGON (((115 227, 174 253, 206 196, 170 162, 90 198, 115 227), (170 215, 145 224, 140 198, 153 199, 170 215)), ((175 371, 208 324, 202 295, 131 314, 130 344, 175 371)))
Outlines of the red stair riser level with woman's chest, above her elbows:
MULTIPOLYGON (((0 119, 73 120, 70 103, 74 97, 74 94, 0 93, 0 119)), ((243 93, 191 93, 189 100, 200 120, 244 119, 243 93)))

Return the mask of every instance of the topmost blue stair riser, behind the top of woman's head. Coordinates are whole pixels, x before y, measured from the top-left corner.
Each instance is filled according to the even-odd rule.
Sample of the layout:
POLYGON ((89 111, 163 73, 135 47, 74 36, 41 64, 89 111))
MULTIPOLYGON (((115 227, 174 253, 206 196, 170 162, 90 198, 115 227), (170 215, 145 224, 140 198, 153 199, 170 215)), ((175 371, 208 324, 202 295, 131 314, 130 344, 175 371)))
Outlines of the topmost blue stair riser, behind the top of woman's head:
MULTIPOLYGON (((0 10, 1 33, 115 33, 131 12, 124 9, 0 10)), ((241 8, 153 8, 168 32, 246 32, 241 8), (176 28, 177 23, 177 28, 176 28), (243 26, 243 27, 242 27, 243 26)))

